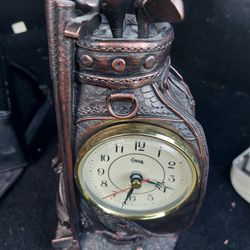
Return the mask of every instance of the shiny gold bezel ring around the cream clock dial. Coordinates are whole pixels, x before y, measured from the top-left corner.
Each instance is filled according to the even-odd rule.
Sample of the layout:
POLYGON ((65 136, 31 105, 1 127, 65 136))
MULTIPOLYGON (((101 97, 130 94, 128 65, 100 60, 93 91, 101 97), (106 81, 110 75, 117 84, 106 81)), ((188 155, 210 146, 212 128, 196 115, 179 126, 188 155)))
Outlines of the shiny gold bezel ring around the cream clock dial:
POLYGON ((179 135, 176 135, 172 131, 166 128, 159 127, 157 125, 150 125, 146 123, 125 123, 125 124, 113 125, 113 126, 103 129, 102 131, 97 132, 96 134, 91 136, 81 147, 77 156, 76 164, 75 164, 75 181, 76 181, 76 184, 80 193, 85 199, 90 201, 95 206, 101 208, 104 212, 108 214, 126 218, 126 219, 132 219, 132 220, 156 219, 156 218, 166 216, 178 210, 180 207, 182 207, 184 204, 188 202, 193 192, 195 191, 196 187, 200 183, 200 177, 201 176, 200 176, 199 163, 191 146, 183 138, 181 138, 179 135), (141 216, 131 216, 131 215, 126 216, 125 214, 119 213, 117 211, 113 211, 112 209, 106 208, 103 205, 98 204, 95 201, 95 199, 91 197, 88 191, 84 190, 83 188, 84 185, 81 183, 82 181, 80 178, 80 172, 81 172, 80 162, 82 158, 93 147, 97 145, 105 143, 118 136, 120 137, 120 136, 130 136, 130 135, 142 135, 142 136, 148 136, 148 137, 154 137, 154 138, 160 139, 164 143, 175 148, 189 163, 190 169, 192 171, 192 176, 193 176, 192 184, 188 192, 186 193, 186 195, 183 197, 183 199, 181 199, 173 207, 157 212, 157 213, 147 213, 147 214, 144 213, 141 216))

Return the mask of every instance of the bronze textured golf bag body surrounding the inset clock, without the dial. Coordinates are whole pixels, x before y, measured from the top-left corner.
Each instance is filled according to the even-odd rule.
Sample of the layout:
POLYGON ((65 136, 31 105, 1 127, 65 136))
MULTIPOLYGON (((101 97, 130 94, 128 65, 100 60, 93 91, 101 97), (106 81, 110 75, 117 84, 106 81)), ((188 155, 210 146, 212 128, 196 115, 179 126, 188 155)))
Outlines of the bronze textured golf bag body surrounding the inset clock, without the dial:
POLYGON ((97 1, 89 1, 89 11, 80 5, 84 2, 88 1, 46 1, 59 138, 58 157, 53 162, 60 175, 59 222, 53 246, 172 249, 200 208, 208 173, 206 140, 195 119, 193 97, 170 63, 173 29, 166 22, 145 22, 138 38, 137 23, 142 22, 135 18, 142 15, 138 8, 137 15, 125 16, 125 12, 126 25, 121 31, 112 26, 111 9, 102 10, 95 5, 97 1), (108 18, 99 11, 109 13, 108 18), (198 178, 192 194, 185 204, 161 218, 133 220, 107 213, 84 198, 76 186, 81 148, 96 134, 127 124, 168 130, 197 159, 198 178))

